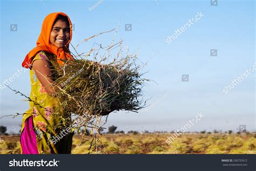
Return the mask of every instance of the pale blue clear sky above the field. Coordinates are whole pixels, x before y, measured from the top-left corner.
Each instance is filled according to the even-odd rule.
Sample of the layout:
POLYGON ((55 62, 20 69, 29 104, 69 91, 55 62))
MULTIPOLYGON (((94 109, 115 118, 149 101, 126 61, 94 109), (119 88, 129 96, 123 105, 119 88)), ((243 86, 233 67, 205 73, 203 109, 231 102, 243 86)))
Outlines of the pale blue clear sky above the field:
MULTIPOLYGON (((204 118, 187 131, 232 129, 239 125, 255 130, 255 72, 225 94, 223 89, 255 60, 255 2, 218 1, 1 1, 1 79, 8 79, 35 45, 43 19, 51 12, 62 11, 75 24, 72 44, 120 24, 116 41, 122 38, 130 52, 139 48, 139 59, 147 62, 144 77, 151 82, 144 87, 151 106, 139 113, 118 112, 109 116, 106 126, 118 130, 172 131, 186 125, 198 112, 204 118), (89 10, 98 2, 98 6, 89 10), (184 26, 197 13, 204 16, 167 44, 167 36, 184 26), (17 24, 17 31, 10 25, 17 24), (132 24, 125 31, 125 24, 132 24), (217 56, 210 50, 217 49, 217 56), (188 74, 188 81, 181 81, 188 74), (167 95, 166 95, 167 94, 167 95)), ((111 34, 80 45, 84 52, 93 43, 108 45, 111 34)), ((29 72, 9 84, 30 94, 29 72)), ((1 115, 22 113, 28 102, 8 88, 0 90, 1 115)), ((4 118, 0 125, 17 131, 22 118, 4 118)))

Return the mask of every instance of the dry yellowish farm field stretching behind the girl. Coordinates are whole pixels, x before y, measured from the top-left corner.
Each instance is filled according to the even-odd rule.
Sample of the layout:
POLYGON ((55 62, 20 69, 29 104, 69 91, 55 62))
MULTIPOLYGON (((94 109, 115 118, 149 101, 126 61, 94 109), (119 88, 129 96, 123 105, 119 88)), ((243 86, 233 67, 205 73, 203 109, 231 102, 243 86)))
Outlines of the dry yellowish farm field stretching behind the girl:
MULTIPOLYGON (((103 134, 102 154, 256 154, 255 134, 183 134, 170 145, 171 134, 103 134)), ((91 136, 75 135, 72 154, 87 154, 91 136)), ((19 135, 2 135, 1 154, 19 154, 19 135)))

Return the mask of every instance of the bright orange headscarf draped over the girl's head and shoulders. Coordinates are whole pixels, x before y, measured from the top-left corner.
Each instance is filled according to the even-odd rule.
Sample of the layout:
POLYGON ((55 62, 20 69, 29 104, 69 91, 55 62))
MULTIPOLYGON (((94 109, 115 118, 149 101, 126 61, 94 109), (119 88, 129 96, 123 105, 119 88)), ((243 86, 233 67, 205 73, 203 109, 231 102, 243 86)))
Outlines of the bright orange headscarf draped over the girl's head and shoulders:
POLYGON ((55 54, 57 56, 57 62, 58 64, 63 64, 62 60, 68 60, 68 59, 73 59, 72 55, 70 54, 69 51, 69 43, 71 42, 72 38, 72 23, 70 21, 70 18, 68 15, 66 15, 63 12, 55 12, 55 13, 50 13, 48 16, 45 17, 43 25, 42 25, 42 30, 41 33, 38 37, 38 40, 36 42, 36 47, 33 48, 25 57, 22 66, 25 67, 26 69, 31 69, 31 61, 32 58, 36 56, 36 54, 40 51, 45 51, 48 53, 55 54), (70 39, 69 42, 66 43, 66 47, 63 48, 58 48, 50 43, 50 35, 51 35, 51 30, 53 23, 55 22, 55 19, 59 16, 65 16, 69 20, 69 25, 70 25, 70 39))

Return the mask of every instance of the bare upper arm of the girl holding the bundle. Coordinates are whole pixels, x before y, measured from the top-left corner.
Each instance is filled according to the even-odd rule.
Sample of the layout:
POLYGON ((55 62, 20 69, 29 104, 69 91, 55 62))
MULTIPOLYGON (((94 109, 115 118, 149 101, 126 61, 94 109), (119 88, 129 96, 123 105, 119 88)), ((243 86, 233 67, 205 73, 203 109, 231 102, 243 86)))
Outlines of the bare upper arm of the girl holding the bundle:
POLYGON ((53 78, 51 77, 50 64, 47 60, 35 60, 33 61, 33 70, 36 73, 36 76, 40 83, 45 88, 46 93, 54 96, 58 91, 58 86, 52 85, 53 78))

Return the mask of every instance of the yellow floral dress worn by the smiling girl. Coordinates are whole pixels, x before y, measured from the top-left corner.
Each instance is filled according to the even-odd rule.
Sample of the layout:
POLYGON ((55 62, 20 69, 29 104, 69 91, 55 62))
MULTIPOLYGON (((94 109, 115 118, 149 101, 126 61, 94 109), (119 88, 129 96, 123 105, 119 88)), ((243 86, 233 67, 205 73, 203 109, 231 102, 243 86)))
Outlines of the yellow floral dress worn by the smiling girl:
MULTIPOLYGON (((55 55, 41 51, 37 53, 32 62, 35 60, 52 61, 54 59, 56 60, 55 55)), ((62 137, 59 136, 60 131, 66 128, 66 126, 64 126, 64 120, 70 121, 70 114, 64 115, 58 110, 57 98, 46 93, 33 69, 30 70, 30 80, 31 101, 29 101, 29 110, 23 114, 21 134, 23 132, 26 119, 32 116, 34 126, 33 131, 36 133, 38 153, 70 154, 73 133, 69 133, 67 135, 62 134, 62 137), (53 136, 59 137, 57 143, 52 142, 53 136)))

